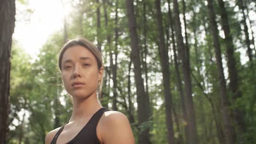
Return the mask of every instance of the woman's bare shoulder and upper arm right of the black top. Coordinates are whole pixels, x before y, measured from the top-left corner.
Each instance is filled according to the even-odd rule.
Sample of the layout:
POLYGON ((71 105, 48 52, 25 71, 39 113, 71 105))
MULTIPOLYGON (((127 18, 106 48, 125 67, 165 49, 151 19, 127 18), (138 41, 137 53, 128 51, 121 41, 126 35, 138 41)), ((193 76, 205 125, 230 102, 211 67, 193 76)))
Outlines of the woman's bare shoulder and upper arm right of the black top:
POLYGON ((135 143, 128 118, 118 111, 106 111, 99 122, 103 143, 135 143))

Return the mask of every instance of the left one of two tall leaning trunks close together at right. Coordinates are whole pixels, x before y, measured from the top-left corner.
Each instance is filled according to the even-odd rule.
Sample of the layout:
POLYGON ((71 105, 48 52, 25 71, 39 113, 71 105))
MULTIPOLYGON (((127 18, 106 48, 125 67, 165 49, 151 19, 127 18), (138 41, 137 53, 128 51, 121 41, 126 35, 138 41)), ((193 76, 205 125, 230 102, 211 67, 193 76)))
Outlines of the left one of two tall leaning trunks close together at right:
POLYGON ((220 88, 220 98, 222 102, 222 114, 223 114, 223 124, 224 124, 224 135, 226 144, 231 144, 236 142, 236 135, 234 128, 231 125, 231 111, 229 109, 230 103, 228 100, 228 95, 226 93, 226 82, 223 73, 223 65, 222 65, 222 56, 220 51, 219 44, 219 35, 217 23, 215 20, 215 13, 213 9, 212 0, 207 0, 208 2, 208 14, 210 19, 211 32, 213 35, 213 45, 216 53, 216 61, 218 67, 218 75, 219 75, 219 88, 220 88))

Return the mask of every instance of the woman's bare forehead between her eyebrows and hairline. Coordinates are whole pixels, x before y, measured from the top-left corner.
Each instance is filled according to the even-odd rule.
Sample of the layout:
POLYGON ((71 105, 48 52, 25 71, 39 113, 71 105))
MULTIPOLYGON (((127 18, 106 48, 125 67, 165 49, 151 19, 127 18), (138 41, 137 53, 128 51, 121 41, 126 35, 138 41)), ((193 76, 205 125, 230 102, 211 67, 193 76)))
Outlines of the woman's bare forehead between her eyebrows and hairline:
POLYGON ((92 61, 96 61, 95 56, 92 54, 91 51, 86 49, 83 46, 77 45, 69 47, 64 53, 62 57, 62 62, 70 59, 72 61, 79 60, 80 57, 89 57, 92 59, 92 61))

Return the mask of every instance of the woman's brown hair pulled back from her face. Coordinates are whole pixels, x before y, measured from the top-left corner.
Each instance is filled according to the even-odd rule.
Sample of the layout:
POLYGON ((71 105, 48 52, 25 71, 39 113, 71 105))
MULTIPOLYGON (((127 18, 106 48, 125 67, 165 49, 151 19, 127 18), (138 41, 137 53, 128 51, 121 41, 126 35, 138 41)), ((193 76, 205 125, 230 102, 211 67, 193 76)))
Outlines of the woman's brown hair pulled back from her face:
MULTIPOLYGON (((88 49, 92 53, 92 55, 94 55, 96 58, 98 70, 100 70, 101 67, 103 67, 101 52, 97 49, 97 47, 85 38, 77 38, 77 39, 71 39, 71 40, 67 41, 67 43, 62 47, 62 49, 60 51, 60 55, 59 55, 60 70, 61 70, 61 61, 62 61, 64 52, 73 46, 83 46, 85 49, 88 49)), ((103 82, 103 76, 102 76, 102 79, 99 81, 98 88, 97 88, 99 97, 101 95, 102 82, 103 82)))

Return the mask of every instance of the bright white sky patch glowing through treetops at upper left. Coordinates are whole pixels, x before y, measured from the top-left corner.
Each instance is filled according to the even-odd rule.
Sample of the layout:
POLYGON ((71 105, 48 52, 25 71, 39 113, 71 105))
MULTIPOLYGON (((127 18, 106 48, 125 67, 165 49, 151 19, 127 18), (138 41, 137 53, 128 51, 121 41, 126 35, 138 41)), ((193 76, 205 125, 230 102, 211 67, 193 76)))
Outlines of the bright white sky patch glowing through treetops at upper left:
MULTIPOLYGON (((65 12, 68 13, 70 7, 66 5, 65 12)), ((65 12, 61 0, 30 0, 25 5, 16 1, 16 23, 13 38, 18 40, 27 53, 35 56, 46 39, 55 31, 62 29, 65 12), (27 9, 33 12, 26 14, 27 9), (26 15, 24 16, 24 14, 26 15)))

